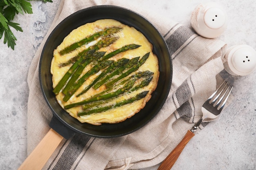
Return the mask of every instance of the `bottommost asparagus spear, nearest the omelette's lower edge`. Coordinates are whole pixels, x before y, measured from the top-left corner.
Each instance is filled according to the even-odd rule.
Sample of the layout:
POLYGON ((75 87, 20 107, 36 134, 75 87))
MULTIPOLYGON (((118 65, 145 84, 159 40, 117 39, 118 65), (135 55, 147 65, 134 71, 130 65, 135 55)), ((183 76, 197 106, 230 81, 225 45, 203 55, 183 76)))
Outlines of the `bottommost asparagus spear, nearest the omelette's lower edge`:
POLYGON ((135 97, 131 97, 130 99, 123 100, 121 102, 118 102, 118 103, 110 105, 110 106, 100 107, 100 108, 96 108, 96 109, 92 109, 92 110, 85 110, 83 112, 78 113, 77 116, 90 115, 92 113, 101 113, 101 112, 104 112, 106 110, 110 110, 112 108, 117 108, 117 107, 120 107, 120 106, 124 106, 126 104, 135 102, 139 99, 142 99, 142 98, 146 97, 147 94, 148 94, 148 91, 144 91, 144 92, 141 92, 141 93, 137 94, 135 97))

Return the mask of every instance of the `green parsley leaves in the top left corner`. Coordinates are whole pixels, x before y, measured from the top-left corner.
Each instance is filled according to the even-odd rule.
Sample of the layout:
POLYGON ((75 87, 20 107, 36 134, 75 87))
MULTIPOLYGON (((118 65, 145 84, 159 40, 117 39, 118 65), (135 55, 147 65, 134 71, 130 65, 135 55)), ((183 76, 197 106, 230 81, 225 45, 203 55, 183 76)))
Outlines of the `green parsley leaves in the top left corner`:
MULTIPOLYGON (((14 50, 17 40, 10 26, 16 31, 23 32, 20 24, 11 22, 18 13, 33 13, 30 0, 0 0, 0 39, 4 36, 4 44, 14 50)), ((43 2, 52 2, 52 0, 42 0, 43 2)))

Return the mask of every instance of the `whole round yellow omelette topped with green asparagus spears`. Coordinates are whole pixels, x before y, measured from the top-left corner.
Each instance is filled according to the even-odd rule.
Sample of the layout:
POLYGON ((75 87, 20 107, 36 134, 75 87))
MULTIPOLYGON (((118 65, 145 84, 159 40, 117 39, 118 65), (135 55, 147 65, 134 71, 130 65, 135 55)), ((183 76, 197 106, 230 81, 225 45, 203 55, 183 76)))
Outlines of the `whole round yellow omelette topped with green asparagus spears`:
POLYGON ((72 117, 115 124, 139 112, 157 87, 153 46, 135 28, 103 19, 74 29, 54 50, 53 92, 72 117))

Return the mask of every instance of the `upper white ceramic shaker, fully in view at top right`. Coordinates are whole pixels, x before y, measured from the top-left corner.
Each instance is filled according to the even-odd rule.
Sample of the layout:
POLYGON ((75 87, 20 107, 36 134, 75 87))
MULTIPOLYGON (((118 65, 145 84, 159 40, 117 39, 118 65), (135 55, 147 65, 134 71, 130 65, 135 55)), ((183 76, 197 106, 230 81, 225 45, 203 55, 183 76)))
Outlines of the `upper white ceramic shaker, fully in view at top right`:
POLYGON ((204 38, 216 38, 227 28, 227 14, 216 2, 199 4, 192 12, 191 26, 204 38))

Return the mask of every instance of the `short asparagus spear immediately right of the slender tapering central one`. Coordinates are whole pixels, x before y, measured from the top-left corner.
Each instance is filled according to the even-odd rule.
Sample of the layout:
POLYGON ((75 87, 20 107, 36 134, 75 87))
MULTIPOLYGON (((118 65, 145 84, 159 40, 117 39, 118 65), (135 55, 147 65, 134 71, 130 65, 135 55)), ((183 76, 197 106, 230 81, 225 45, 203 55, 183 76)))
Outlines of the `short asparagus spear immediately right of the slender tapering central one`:
POLYGON ((102 86, 104 83, 108 82, 108 80, 114 77, 115 75, 119 75, 120 73, 122 73, 124 69, 134 66, 138 62, 138 60, 139 60, 139 57, 132 58, 126 65, 119 67, 116 71, 107 75, 104 79, 102 79, 100 82, 95 84, 93 88, 96 90, 97 88, 102 86))

